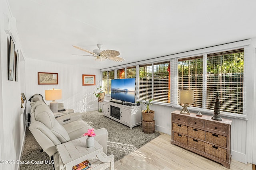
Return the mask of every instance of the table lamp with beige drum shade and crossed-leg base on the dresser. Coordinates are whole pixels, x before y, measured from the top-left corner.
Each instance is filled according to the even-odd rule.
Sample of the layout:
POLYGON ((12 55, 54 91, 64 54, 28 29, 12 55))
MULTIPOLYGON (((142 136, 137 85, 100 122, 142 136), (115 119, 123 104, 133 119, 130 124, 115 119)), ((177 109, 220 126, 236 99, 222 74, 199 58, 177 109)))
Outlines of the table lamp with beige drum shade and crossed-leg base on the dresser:
POLYGON ((180 113, 190 115, 190 111, 187 109, 187 107, 189 106, 186 106, 186 104, 194 103, 194 90, 180 90, 179 102, 184 104, 184 105, 180 104, 180 106, 183 107, 180 113))

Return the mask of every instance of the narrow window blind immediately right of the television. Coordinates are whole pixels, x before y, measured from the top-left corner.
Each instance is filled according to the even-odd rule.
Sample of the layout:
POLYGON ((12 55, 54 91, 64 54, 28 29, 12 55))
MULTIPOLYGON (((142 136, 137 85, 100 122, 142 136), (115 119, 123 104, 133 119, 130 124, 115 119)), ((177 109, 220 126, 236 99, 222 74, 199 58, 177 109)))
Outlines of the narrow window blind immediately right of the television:
POLYGON ((152 99, 152 64, 139 66, 139 99, 152 99))

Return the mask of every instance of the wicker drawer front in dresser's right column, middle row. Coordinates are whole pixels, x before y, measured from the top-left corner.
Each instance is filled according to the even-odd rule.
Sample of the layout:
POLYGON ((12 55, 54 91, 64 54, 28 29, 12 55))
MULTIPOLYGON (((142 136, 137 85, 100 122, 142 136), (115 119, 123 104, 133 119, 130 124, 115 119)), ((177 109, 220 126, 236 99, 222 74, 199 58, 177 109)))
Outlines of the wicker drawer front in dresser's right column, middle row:
POLYGON ((215 133, 205 132, 205 141, 214 143, 221 147, 227 147, 227 137, 215 133))

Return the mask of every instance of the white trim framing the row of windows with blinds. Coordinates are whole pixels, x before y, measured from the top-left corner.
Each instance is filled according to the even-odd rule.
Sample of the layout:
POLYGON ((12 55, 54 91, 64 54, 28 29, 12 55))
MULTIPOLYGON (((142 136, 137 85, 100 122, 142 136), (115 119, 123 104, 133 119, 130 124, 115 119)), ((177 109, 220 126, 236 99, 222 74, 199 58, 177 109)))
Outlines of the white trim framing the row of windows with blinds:
MULTIPOLYGON (((188 58, 188 57, 194 57, 194 56, 199 56, 199 55, 203 55, 204 56, 204 72, 206 72, 206 58, 207 58, 207 54, 209 53, 217 53, 219 51, 228 51, 228 50, 232 50, 232 49, 239 49, 239 48, 244 48, 244 95, 243 95, 243 114, 238 114, 238 113, 228 113, 228 112, 222 112, 220 111, 220 114, 225 116, 225 117, 236 117, 239 119, 245 119, 246 118, 246 86, 247 86, 247 81, 246 80, 246 70, 250 69, 250 64, 249 66, 246 64, 246 56, 247 56, 247 51, 246 48, 248 47, 248 45, 250 45, 250 39, 247 40, 242 40, 242 41, 237 41, 234 43, 227 43, 227 44, 223 44, 223 45, 216 45, 213 47, 206 47, 206 48, 202 48, 202 49, 197 49, 197 50, 192 50, 192 51, 187 51, 187 52, 183 52, 183 53, 177 53, 177 54, 173 54, 173 55, 166 55, 164 57, 157 57, 154 59, 148 59, 146 61, 140 61, 140 62, 136 62, 136 63, 130 63, 130 64, 125 64, 122 65, 122 67, 120 66, 116 66, 113 67, 114 69, 120 69, 120 68, 126 68, 126 67, 130 67, 130 66, 136 66, 136 80, 138 81, 138 67, 139 65, 142 64, 148 64, 148 63, 159 63, 159 62, 164 62, 164 61, 170 61, 170 103, 163 103, 163 102, 156 102, 156 101, 152 101, 153 104, 158 104, 158 105, 163 105, 163 106, 171 106, 177 109, 181 109, 181 106, 178 105, 178 59, 182 59, 182 58, 188 58), (248 68, 249 67, 249 68, 248 68)), ((105 70, 110 70, 113 68, 105 68, 105 69, 101 69, 101 71, 105 71, 105 70)), ((204 76, 206 76, 206 74, 204 74, 204 76)), ((204 78, 204 82, 203 84, 206 84, 206 78, 204 78)), ((138 91, 138 86, 139 84, 136 85, 136 90, 138 91)), ((206 86, 203 86, 203 88, 206 88, 206 86)), ((152 92, 153 93, 153 92, 152 92)), ((203 95, 203 101, 206 101, 204 98, 206 98, 206 96, 203 95)), ((136 101, 140 101, 138 100, 138 93, 136 96, 136 101)), ((143 100, 142 100, 143 101, 143 100)), ((201 111, 201 113, 204 114, 208 114, 208 115, 212 115, 213 114, 213 110, 207 110, 207 109, 203 109, 203 108, 199 108, 199 107, 190 107, 190 111, 193 112, 198 112, 201 111)))

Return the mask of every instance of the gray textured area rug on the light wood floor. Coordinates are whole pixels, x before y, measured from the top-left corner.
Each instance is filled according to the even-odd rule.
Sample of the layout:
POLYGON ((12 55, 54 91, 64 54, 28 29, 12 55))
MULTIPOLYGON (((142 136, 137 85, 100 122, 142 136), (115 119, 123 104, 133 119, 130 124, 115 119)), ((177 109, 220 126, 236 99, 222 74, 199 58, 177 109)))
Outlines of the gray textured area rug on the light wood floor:
MULTIPOLYGON (((118 123, 97 111, 84 112, 82 119, 94 129, 106 128, 108 130, 108 155, 113 154, 115 161, 122 159, 130 152, 139 149, 152 139, 158 137, 160 133, 146 134, 142 132, 142 126, 130 127, 118 123)), ((40 152, 40 146, 34 139, 30 131, 26 130, 25 145, 22 153, 22 161, 42 161, 50 160, 45 152, 40 152)), ((40 162, 39 162, 40 163, 40 162)), ((20 170, 53 170, 51 164, 21 164, 20 170)))

